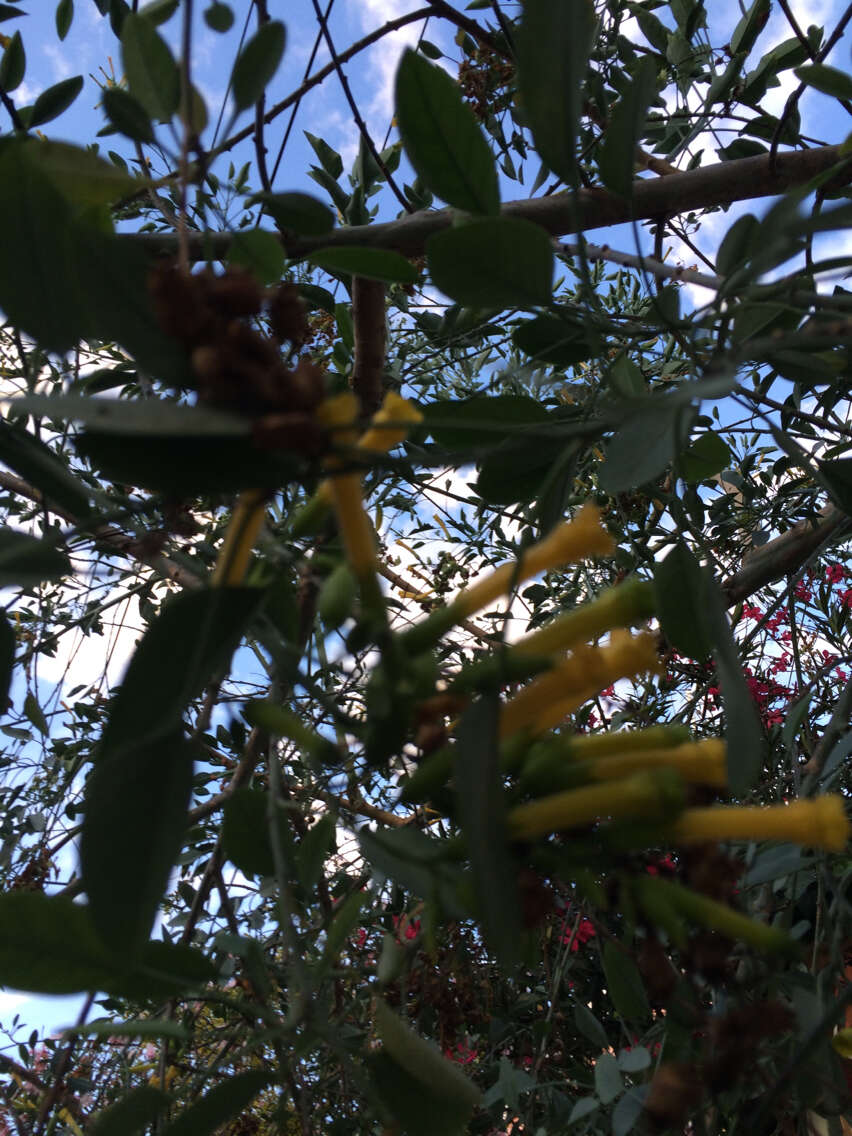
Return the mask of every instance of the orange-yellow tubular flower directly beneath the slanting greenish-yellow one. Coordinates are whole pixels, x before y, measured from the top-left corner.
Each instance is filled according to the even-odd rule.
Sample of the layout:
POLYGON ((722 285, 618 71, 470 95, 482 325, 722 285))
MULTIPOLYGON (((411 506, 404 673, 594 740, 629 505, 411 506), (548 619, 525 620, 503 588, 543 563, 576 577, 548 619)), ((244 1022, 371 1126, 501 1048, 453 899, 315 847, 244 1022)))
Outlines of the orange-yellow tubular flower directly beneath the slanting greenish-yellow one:
POLYGON ((542 733, 617 678, 658 669, 652 634, 613 632, 609 645, 578 649, 507 702, 500 716, 500 736, 508 737, 524 727, 542 733))

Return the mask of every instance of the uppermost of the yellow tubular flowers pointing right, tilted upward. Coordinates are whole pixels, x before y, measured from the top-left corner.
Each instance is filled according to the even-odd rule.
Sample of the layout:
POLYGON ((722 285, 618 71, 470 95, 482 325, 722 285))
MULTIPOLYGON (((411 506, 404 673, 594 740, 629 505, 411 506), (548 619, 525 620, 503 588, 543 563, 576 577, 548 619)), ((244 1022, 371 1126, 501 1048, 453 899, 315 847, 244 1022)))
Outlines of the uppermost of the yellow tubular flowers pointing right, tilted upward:
POLYGON ((478 584, 459 592, 450 609, 458 621, 500 599, 513 584, 584 557, 608 556, 615 551, 615 541, 601 525, 600 509, 585 504, 574 520, 559 525, 543 541, 527 549, 520 563, 509 561, 501 565, 478 584))

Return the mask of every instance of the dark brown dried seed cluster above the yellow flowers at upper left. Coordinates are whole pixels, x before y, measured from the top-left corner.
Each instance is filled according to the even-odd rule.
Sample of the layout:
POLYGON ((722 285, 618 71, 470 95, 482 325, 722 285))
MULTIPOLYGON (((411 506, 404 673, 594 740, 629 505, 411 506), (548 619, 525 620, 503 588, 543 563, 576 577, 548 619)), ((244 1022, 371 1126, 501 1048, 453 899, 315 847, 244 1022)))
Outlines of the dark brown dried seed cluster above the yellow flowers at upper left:
POLYGON ((311 433, 308 420, 312 421, 325 390, 319 367, 301 359, 290 368, 282 353, 283 344, 290 344, 292 354, 310 334, 295 285, 278 284, 265 291, 241 268, 222 275, 210 269, 190 274, 168 262, 151 272, 149 291, 160 326, 190 353, 200 401, 265 416, 272 437, 265 435, 261 444, 292 444, 300 440, 299 429, 304 429, 296 448, 306 449, 311 433), (270 335, 250 323, 262 311, 270 335))

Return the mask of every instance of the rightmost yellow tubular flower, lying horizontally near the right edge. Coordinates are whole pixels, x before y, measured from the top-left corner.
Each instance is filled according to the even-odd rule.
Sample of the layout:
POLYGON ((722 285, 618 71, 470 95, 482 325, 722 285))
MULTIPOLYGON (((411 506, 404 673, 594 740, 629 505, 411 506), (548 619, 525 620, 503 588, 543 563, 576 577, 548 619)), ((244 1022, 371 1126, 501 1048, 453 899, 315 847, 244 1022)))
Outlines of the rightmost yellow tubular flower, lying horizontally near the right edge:
POLYGON ((850 838, 843 797, 826 794, 791 804, 686 809, 667 833, 674 844, 702 841, 790 841, 842 852, 850 838))

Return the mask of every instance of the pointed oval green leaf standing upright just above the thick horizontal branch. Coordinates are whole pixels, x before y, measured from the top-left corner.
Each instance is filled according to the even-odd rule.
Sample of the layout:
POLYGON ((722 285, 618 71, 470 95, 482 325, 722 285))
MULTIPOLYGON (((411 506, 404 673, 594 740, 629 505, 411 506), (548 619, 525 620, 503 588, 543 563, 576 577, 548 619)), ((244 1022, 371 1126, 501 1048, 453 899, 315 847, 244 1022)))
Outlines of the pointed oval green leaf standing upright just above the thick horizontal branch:
POLYGON ((408 159, 433 193, 467 212, 500 210, 494 158, 458 83, 410 48, 396 72, 395 110, 408 159))

